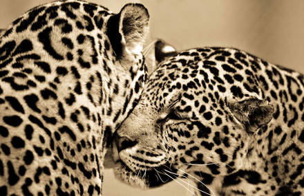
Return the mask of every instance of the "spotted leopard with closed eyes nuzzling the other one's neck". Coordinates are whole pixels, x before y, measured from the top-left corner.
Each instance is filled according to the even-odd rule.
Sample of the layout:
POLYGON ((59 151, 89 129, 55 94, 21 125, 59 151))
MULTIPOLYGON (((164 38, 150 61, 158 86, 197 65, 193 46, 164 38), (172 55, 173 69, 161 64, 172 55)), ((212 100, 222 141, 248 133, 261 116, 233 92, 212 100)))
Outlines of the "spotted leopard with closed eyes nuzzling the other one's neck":
POLYGON ((113 138, 133 187, 304 195, 304 75, 233 47, 178 52, 148 76, 113 138))

